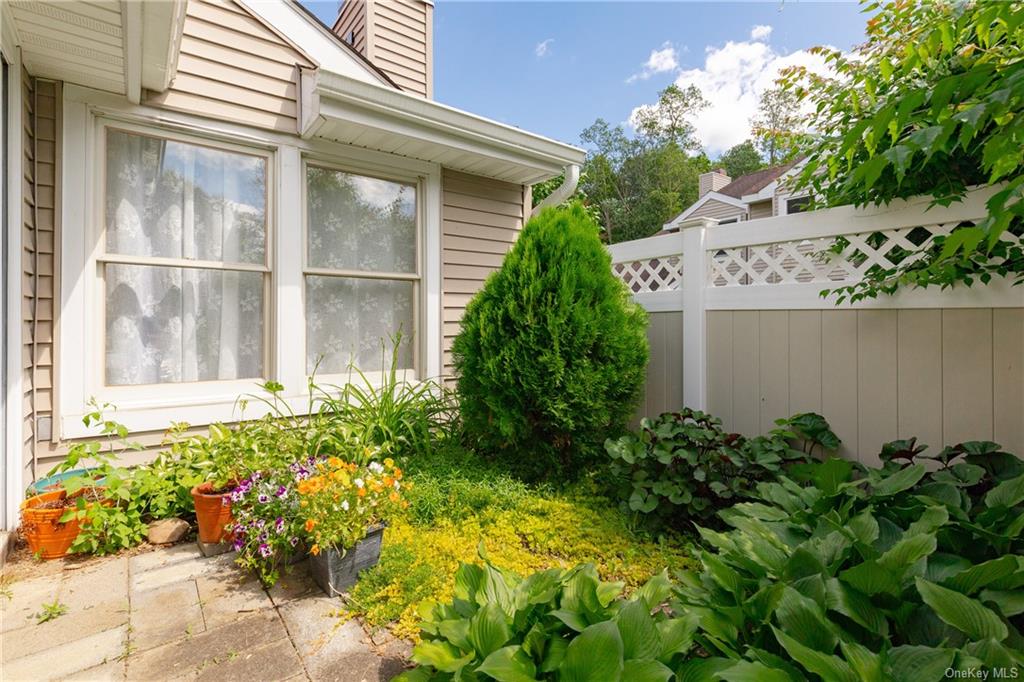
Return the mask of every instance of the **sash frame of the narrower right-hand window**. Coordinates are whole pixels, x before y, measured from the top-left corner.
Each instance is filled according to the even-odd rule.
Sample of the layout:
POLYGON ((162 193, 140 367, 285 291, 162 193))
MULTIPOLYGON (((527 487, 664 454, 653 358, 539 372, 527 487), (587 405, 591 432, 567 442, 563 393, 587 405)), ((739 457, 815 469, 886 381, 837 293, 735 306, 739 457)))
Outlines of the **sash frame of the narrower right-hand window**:
MULTIPOLYGON (((344 160, 327 160, 324 158, 315 158, 306 156, 302 160, 302 309, 305 311, 306 305, 306 281, 309 276, 327 276, 327 278, 337 278, 342 280, 381 280, 383 282, 412 282, 413 283, 413 325, 412 330, 402 330, 403 343, 413 343, 413 367, 410 370, 404 370, 398 374, 398 379, 400 381, 416 381, 423 376, 423 356, 424 356, 424 344, 421 340, 423 334, 421 332, 425 329, 425 321, 423 311, 424 296, 423 296, 423 273, 425 269, 424 263, 424 224, 426 223, 424 216, 424 202, 421 201, 424 193, 424 178, 419 177, 415 174, 402 174, 396 172, 380 172, 368 170, 366 167, 360 167, 358 165, 353 165, 352 163, 346 163, 344 160), (416 190, 416 271, 414 273, 407 272, 384 272, 378 270, 358 270, 358 269, 336 269, 336 268, 325 268, 325 267, 313 267, 309 264, 309 188, 307 186, 308 180, 308 169, 310 166, 316 168, 323 168, 329 171, 337 171, 341 173, 348 173, 350 175, 358 175, 362 177, 370 177, 378 180, 385 180, 388 182, 398 182, 406 185, 412 185, 416 190)), ((303 317, 303 367, 307 366, 305 352, 307 350, 308 344, 305 338, 306 327, 305 318, 303 317)), ((385 340, 387 343, 387 340, 385 340)), ((390 345, 387 346, 387 352, 390 352, 390 345)), ((387 357, 385 356, 385 360, 387 357)), ((361 370, 362 375, 372 384, 381 384, 388 372, 388 368, 383 368, 381 371, 368 372, 361 370)), ((318 373, 315 377, 316 383, 321 385, 343 385, 353 378, 352 374, 349 372, 334 372, 318 373)))

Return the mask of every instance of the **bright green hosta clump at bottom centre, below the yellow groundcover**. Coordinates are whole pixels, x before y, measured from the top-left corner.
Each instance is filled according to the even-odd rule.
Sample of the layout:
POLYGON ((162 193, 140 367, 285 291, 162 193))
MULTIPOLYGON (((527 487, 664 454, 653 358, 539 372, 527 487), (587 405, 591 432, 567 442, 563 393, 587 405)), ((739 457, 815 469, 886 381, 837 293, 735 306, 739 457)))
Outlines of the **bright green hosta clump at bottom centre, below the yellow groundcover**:
POLYGON ((463 564, 455 600, 422 609, 420 668, 398 679, 668 680, 696 625, 659 608, 670 589, 665 571, 624 599, 623 584, 601 582, 593 564, 524 580, 463 564))

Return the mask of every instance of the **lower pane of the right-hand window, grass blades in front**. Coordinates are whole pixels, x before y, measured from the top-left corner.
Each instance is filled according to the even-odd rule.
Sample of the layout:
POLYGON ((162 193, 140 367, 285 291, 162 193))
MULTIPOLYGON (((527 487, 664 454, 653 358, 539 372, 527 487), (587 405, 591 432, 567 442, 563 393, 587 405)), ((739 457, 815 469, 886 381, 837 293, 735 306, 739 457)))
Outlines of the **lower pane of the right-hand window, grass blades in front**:
POLYGON ((390 337, 400 330, 398 369, 413 369, 413 283, 306 278, 306 371, 339 374, 390 368, 390 337), (387 357, 381 357, 381 342, 387 357), (316 361, 321 360, 319 367, 316 361))

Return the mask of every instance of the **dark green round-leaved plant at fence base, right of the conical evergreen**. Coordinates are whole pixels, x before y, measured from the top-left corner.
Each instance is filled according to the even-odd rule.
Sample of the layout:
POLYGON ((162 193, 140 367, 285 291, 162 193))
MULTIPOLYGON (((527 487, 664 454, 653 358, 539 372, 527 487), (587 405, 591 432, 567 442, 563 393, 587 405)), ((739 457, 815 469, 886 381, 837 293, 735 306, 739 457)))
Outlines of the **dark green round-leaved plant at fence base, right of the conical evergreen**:
POLYGON ((808 461, 791 441, 839 446, 819 415, 779 420, 767 436, 726 433, 722 420, 684 408, 641 421, 640 431, 608 439, 611 475, 627 513, 642 514, 656 527, 716 523, 716 513, 753 492, 757 481, 783 467, 808 461))

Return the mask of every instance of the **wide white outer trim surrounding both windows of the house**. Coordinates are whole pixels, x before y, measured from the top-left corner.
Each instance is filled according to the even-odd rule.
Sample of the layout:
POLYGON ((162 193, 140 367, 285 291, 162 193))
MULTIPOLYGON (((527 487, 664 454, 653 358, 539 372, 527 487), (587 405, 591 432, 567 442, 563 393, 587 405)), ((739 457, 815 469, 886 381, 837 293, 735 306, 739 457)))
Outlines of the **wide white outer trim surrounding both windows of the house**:
MULTIPOLYGON (((302 140, 291 135, 263 131, 231 123, 213 122, 189 114, 170 113, 145 105, 133 105, 88 88, 68 86, 63 97, 63 152, 61 172, 61 236, 60 236, 60 307, 56 334, 65 342, 58 344, 56 382, 58 386, 55 428, 60 438, 94 435, 82 423, 87 403, 95 394, 117 407, 116 418, 132 432, 163 431, 171 421, 193 425, 229 422, 241 417, 238 398, 246 393, 259 393, 257 381, 195 382, 161 384, 156 387, 105 388, 97 394, 99 384, 90 377, 101 367, 101 346, 96 334, 101 334, 102 301, 96 301, 96 255, 100 245, 95 242, 95 215, 102 189, 97 185, 97 131, 105 122, 139 126, 150 134, 183 133, 205 138, 220 145, 234 145, 270 153, 272 168, 268 168, 267 237, 270 254, 270 292, 266 305, 266 325, 270 343, 264 373, 266 379, 281 382, 284 395, 296 411, 305 408, 305 316, 303 255, 305 245, 298 229, 304 225, 305 197, 302 194, 305 160, 332 166, 344 166, 352 172, 396 178, 415 177, 422 196, 422 269, 417 334, 422 347, 419 376, 439 377, 441 372, 441 183, 440 167, 394 155, 360 150, 319 140, 302 140), (273 178, 273 179, 270 179, 273 178), (91 229, 90 220, 92 221, 91 229), (87 230, 88 233, 87 233, 87 230), (75 342, 74 340, 79 340, 75 342), (91 392, 90 392, 91 391, 91 392)), ((371 384, 379 376, 368 376, 371 384)), ((317 377, 317 381, 344 383, 347 375, 317 377)), ((267 408, 249 401, 246 417, 258 417, 267 408)))

